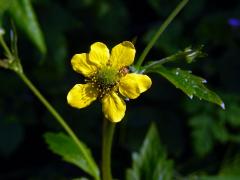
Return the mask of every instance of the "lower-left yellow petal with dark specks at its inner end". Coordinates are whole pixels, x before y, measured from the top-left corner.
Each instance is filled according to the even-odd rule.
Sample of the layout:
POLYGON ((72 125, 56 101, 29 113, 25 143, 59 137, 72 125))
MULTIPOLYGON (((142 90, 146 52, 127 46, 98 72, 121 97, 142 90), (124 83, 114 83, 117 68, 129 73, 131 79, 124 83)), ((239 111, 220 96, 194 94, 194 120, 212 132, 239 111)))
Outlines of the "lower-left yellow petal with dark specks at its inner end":
POLYGON ((72 107, 84 108, 97 99, 97 93, 91 84, 76 84, 68 93, 67 101, 72 107))

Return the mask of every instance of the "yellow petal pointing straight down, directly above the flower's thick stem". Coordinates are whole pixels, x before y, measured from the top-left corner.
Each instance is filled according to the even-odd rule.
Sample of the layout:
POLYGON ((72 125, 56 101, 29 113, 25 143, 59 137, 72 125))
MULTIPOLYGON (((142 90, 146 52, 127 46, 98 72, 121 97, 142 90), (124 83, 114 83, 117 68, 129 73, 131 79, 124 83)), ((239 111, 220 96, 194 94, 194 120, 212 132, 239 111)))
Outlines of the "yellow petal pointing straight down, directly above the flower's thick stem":
POLYGON ((106 119, 116 123, 123 119, 126 104, 115 92, 112 92, 103 97, 102 111, 106 119))

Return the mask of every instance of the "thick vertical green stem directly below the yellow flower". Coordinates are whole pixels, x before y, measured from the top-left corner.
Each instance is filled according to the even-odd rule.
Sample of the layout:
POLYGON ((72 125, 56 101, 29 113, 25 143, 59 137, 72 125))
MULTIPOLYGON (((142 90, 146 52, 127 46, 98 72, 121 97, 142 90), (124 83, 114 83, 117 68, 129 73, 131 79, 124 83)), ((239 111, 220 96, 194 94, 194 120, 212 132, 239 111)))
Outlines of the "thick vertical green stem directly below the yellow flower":
POLYGON ((103 121, 102 178, 103 180, 112 180, 111 149, 115 124, 105 118, 103 119, 103 121))

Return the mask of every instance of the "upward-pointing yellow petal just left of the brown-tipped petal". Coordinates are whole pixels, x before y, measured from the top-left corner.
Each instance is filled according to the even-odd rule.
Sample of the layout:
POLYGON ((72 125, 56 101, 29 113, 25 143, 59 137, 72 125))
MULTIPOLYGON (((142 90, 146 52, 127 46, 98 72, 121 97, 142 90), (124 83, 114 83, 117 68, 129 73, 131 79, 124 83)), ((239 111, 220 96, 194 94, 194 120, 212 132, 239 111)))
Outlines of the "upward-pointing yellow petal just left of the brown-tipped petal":
POLYGON ((89 60, 98 68, 106 66, 109 61, 109 49, 104 43, 96 42, 91 45, 89 60))

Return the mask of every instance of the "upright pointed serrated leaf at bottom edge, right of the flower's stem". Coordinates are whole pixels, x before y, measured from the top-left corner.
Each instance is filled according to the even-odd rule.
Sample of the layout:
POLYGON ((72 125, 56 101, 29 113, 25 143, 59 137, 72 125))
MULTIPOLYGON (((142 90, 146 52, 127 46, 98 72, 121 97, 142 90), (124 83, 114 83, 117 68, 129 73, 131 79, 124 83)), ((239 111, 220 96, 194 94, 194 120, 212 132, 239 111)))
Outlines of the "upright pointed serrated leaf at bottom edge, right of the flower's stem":
POLYGON ((127 170, 127 180, 172 179, 173 163, 160 144, 157 128, 151 125, 141 147, 140 153, 133 154, 133 165, 127 170))

